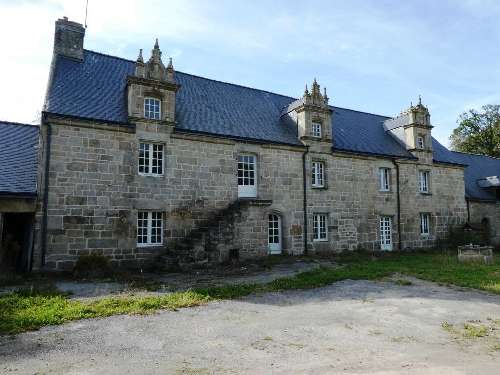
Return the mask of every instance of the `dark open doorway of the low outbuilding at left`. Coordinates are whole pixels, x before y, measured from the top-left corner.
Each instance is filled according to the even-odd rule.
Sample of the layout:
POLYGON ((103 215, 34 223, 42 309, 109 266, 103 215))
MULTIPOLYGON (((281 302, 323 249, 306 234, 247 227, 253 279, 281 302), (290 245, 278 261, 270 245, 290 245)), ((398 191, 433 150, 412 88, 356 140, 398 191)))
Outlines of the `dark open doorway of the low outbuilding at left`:
POLYGON ((0 270, 23 272, 30 269, 32 213, 4 213, 0 233, 0 270))

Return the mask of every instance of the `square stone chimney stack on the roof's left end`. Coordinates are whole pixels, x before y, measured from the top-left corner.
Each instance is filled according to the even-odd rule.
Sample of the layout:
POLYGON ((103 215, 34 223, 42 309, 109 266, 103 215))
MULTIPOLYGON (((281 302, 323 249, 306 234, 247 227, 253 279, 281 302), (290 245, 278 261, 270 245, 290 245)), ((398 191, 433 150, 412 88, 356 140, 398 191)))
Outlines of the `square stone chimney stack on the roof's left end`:
POLYGON ((69 21, 68 17, 58 19, 54 35, 54 53, 82 61, 84 37, 85 28, 82 24, 69 21))

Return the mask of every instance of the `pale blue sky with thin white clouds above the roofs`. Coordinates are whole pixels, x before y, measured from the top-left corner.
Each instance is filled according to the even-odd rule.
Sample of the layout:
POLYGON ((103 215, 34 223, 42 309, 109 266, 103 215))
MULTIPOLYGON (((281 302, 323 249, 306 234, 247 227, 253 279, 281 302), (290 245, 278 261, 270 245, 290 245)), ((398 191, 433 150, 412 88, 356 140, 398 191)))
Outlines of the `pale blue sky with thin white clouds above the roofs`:
MULTIPOLYGON (((54 21, 85 0, 0 0, 0 118, 43 104, 54 21)), ((395 116, 422 95, 448 144, 460 113, 500 103, 500 1, 96 1, 85 48, 163 56, 187 73, 293 97, 314 77, 331 104, 395 116)))

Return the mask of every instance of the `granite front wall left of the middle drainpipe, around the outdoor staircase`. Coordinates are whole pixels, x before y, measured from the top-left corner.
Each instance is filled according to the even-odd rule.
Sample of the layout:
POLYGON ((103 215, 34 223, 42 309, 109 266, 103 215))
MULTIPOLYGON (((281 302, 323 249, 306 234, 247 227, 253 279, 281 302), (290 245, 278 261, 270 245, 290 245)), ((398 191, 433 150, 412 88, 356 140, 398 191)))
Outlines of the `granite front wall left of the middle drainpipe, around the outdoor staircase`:
MULTIPOLYGON (((267 214, 283 217, 283 250, 302 251, 302 150, 172 134, 172 128, 52 121, 46 267, 70 269, 79 255, 109 256, 119 266, 136 266, 163 254, 217 210, 237 199, 237 155, 258 161, 258 198, 235 223, 240 256, 266 254, 267 214), (107 127, 107 128, 106 128, 107 127), (139 141, 165 145, 165 173, 140 176, 139 141), (137 247, 138 210, 165 213, 164 246, 137 247), (291 230, 290 228, 295 228, 291 230)), ((41 208, 38 226, 42 219, 41 208)), ((38 232, 36 258, 40 260, 38 232)), ((35 266, 40 266, 38 262, 35 266)))

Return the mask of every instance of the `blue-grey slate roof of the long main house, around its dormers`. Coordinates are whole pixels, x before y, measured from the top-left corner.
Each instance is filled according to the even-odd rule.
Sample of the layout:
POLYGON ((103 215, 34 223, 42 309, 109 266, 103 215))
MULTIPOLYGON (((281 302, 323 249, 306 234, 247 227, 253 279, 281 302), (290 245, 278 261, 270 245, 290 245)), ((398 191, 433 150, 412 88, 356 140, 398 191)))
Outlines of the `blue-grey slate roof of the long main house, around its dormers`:
MULTIPOLYGON (((44 110, 127 123, 126 78, 134 70, 134 61, 88 50, 84 51, 82 62, 58 56, 44 110)), ((182 72, 176 72, 176 79, 181 88, 176 95, 175 131, 302 145, 294 123, 282 116, 296 98, 182 72)), ((413 158, 384 129, 384 121, 389 117, 338 107, 331 109, 335 150, 413 158)), ((437 140, 432 141, 435 162, 468 164, 466 158, 457 157, 437 140)), ((477 163, 473 162, 472 165, 476 168, 477 163)), ((472 176, 467 173, 467 179, 469 175, 472 176)), ((471 181, 467 181, 470 196, 483 196, 483 192, 472 187, 471 181)))

